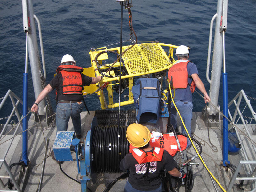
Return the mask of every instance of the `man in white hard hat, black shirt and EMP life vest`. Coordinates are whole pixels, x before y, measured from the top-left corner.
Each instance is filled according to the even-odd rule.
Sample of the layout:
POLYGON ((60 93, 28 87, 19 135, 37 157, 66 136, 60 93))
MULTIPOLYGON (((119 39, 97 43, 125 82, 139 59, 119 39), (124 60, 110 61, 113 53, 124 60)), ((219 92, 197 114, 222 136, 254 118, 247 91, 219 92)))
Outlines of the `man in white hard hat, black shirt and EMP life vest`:
POLYGON ((102 78, 101 76, 86 76, 82 74, 83 70, 84 69, 82 67, 76 66, 76 61, 71 55, 64 55, 61 59, 61 65, 57 67, 57 75, 54 76, 50 83, 38 95, 31 108, 31 111, 36 113, 38 111, 38 104, 40 101, 43 100, 49 92, 56 89, 57 132, 67 131, 68 121, 71 117, 74 131, 78 139, 81 138, 80 113, 85 105, 82 90, 84 86, 98 83, 102 78))

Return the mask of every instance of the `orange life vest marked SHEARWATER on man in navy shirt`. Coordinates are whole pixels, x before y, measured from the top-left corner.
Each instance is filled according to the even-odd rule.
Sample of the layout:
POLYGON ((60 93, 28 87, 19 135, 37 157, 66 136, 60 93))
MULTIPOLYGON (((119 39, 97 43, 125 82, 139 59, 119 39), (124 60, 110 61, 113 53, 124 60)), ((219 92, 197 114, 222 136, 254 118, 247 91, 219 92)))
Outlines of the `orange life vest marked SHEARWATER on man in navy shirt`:
POLYGON ((184 61, 174 64, 168 71, 168 79, 171 80, 172 76, 172 86, 174 89, 185 89, 187 86, 190 86, 190 90, 193 93, 196 88, 196 84, 192 81, 191 84, 188 83, 188 77, 191 78, 191 75, 188 75, 187 64, 191 61, 184 61))

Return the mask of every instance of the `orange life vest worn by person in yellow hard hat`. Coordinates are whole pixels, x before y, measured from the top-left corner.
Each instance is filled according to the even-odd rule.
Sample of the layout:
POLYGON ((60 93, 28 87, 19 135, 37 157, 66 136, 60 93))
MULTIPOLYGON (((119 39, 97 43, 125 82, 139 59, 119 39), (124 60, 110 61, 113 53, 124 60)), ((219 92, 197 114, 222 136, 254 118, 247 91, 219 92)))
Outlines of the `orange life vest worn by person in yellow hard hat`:
POLYGON ((139 148, 132 149, 132 156, 139 164, 152 161, 162 161, 163 153, 164 149, 159 147, 154 147, 153 152, 145 152, 139 148))

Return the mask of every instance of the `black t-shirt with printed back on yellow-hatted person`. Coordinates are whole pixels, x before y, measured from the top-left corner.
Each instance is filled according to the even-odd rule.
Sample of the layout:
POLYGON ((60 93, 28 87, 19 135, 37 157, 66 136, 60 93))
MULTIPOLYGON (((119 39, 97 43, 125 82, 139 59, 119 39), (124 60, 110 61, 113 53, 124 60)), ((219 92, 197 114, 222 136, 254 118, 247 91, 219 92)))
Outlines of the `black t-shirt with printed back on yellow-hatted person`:
POLYGON ((132 156, 132 153, 128 153, 120 162, 121 170, 130 170, 128 180, 132 187, 145 191, 159 188, 161 185, 160 171, 164 169, 171 171, 176 166, 176 161, 166 150, 164 150, 162 161, 139 164, 132 156), (147 172, 148 164, 150 166, 147 177, 145 173, 147 172))

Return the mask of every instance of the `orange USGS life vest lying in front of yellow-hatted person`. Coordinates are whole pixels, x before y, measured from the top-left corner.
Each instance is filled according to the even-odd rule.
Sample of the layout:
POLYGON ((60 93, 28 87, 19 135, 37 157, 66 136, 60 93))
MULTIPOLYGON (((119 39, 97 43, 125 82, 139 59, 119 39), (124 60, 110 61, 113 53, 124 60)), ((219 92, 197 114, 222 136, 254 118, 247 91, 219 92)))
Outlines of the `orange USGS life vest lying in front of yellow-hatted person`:
MULTIPOLYGON (((149 141, 150 145, 152 147, 163 148, 166 151, 168 151, 168 153, 171 156, 174 156, 179 151, 179 148, 178 148, 178 145, 177 145, 174 134, 173 133, 167 133, 167 134, 162 134, 162 135, 163 136, 160 136, 159 139, 155 142, 152 142, 153 138, 151 138, 150 141, 149 141)), ((186 147, 187 147, 187 138, 185 136, 178 135, 178 140, 180 142, 181 150, 182 151, 185 150, 186 147)), ((134 148, 135 148, 134 146, 130 145, 129 152, 132 153, 134 148)))

